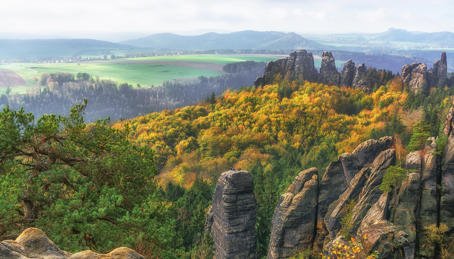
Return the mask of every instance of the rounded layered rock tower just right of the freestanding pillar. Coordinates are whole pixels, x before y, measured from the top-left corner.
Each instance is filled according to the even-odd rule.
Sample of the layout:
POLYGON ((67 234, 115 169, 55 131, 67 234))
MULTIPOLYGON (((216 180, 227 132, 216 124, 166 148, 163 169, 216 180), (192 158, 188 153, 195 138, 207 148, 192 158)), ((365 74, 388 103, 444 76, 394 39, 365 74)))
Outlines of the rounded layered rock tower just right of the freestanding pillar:
POLYGON ((274 211, 267 259, 287 258, 310 247, 314 239, 318 201, 317 168, 302 171, 274 211))

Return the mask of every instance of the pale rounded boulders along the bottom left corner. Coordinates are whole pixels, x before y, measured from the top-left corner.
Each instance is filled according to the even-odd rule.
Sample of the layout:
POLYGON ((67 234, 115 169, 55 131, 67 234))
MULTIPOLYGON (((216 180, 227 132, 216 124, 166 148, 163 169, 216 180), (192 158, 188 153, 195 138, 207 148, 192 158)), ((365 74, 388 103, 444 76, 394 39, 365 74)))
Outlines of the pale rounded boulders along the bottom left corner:
POLYGON ((91 250, 71 254, 60 250, 43 231, 28 228, 14 240, 0 242, 0 258, 7 259, 144 259, 134 250, 120 247, 109 254, 96 254, 91 250))

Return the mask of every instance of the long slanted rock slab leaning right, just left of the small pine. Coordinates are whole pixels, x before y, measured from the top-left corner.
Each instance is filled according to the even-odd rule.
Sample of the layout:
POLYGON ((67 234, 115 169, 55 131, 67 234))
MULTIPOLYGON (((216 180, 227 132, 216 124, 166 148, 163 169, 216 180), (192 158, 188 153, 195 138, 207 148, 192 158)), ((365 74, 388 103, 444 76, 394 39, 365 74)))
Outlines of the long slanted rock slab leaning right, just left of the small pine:
POLYGON ((386 169, 395 164, 395 160, 395 149, 382 151, 375 158, 372 172, 361 191, 361 198, 351 212, 353 226, 350 233, 356 233, 369 209, 379 200, 383 193, 379 189, 383 176, 385 176, 386 169))

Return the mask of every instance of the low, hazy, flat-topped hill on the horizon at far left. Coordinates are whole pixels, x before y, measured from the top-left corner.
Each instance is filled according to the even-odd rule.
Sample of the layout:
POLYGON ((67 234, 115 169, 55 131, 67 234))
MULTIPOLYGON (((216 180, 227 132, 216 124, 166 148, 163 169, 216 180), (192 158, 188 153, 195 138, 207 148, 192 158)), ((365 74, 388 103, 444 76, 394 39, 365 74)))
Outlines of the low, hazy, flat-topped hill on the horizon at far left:
POLYGON ((0 47, 49 46, 49 47, 132 47, 96 39, 0 39, 0 47))

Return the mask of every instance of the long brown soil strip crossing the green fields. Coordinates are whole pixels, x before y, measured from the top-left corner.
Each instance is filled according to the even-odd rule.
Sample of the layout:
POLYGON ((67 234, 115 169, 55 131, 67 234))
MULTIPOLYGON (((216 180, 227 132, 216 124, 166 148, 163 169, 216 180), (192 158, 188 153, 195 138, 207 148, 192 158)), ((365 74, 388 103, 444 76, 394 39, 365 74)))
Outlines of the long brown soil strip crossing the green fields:
MULTIPOLYGON (((84 62, 81 62, 84 63, 84 62)), ((103 60, 103 61, 92 61, 90 63, 121 63, 121 64, 153 64, 153 65, 167 65, 184 68, 197 68, 203 70, 209 70, 214 72, 225 73, 222 71, 224 64, 210 63, 210 62, 199 62, 199 61, 172 61, 172 60, 103 60)))

